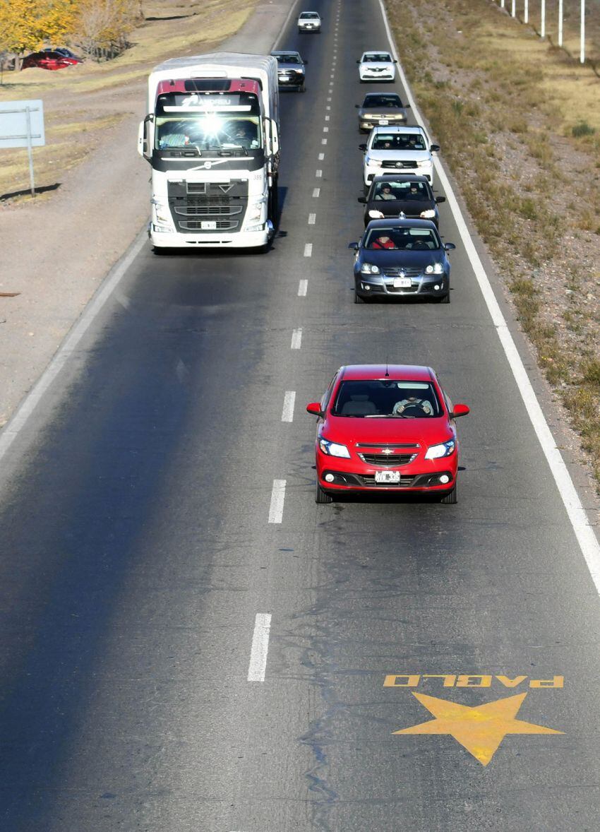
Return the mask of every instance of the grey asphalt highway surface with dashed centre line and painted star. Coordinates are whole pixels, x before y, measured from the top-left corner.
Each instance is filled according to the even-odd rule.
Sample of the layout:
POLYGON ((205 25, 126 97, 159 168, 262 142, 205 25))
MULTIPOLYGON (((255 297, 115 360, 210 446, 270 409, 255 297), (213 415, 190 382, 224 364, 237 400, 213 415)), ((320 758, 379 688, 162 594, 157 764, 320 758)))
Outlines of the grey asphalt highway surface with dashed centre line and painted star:
POLYGON ((463 247, 450 305, 353 304, 388 42, 311 7, 273 249, 145 246, 7 458, 2 830, 600 825, 598 593, 463 247), (470 405, 455 506, 314 502, 305 404, 386 358, 470 405))

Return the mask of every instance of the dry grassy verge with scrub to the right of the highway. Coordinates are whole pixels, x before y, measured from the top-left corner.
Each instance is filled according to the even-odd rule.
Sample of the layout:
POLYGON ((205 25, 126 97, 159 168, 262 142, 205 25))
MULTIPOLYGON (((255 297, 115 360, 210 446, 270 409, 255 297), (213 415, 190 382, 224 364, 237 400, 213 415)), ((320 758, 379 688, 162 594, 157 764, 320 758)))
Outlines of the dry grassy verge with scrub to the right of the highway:
POLYGON ((582 240, 600 260, 598 77, 491 3, 430 0, 443 38, 421 25, 417 0, 388 7, 411 86, 600 483, 598 321, 589 311, 600 281, 573 257, 582 240), (585 171, 576 181, 573 166, 585 171), (568 308, 551 315, 553 293, 568 308))

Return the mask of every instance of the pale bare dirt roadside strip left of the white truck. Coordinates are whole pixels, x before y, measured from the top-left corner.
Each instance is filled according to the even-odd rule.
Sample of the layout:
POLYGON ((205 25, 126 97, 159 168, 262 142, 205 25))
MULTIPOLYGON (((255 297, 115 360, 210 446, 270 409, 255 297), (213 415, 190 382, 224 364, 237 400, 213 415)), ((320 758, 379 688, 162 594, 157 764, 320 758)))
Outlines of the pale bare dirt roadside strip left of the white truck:
MULTIPOLYGON (((197 52, 217 46, 268 52, 293 2, 258 3, 239 32, 209 49, 204 41, 197 52)), ((231 7, 236 7, 233 0, 231 7)), ((186 26, 182 23, 182 32, 186 26)), ((189 37, 180 53, 194 54, 189 37)), ((118 96, 111 87, 77 100, 76 106, 86 106, 91 97, 96 111, 106 114, 115 110, 118 98, 120 120, 91 135, 95 147, 81 164, 57 171, 57 190, 35 201, 0 203, 0 427, 147 222, 150 169, 137 155, 136 140, 144 116, 145 75, 158 60, 153 56, 148 67, 135 67, 145 72, 136 72, 135 80, 118 87, 118 96), (12 293, 18 294, 3 296, 12 293)), ((52 92, 47 97, 50 108, 65 106, 52 92)), ((46 106, 46 96, 42 98, 46 106)), ((74 106, 72 98, 67 103, 74 106)))

